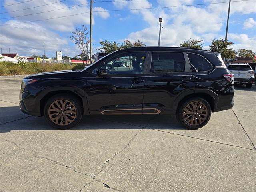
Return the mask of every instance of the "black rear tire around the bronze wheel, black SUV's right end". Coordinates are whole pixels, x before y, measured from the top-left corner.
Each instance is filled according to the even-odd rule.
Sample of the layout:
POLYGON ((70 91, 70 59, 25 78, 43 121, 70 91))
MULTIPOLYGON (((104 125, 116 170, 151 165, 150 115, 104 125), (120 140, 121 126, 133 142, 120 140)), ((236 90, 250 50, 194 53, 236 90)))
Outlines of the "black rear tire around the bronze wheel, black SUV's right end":
MULTIPOLYGON (((198 107, 199 108, 199 107, 198 107)), ((202 108, 199 108, 197 110, 202 110, 202 108)), ((205 126, 208 121, 210 120, 210 117, 211 117, 211 114, 212 114, 212 111, 211 111, 211 107, 210 105, 208 104, 208 102, 206 100, 204 100, 203 98, 200 98, 200 97, 193 97, 193 98, 189 98, 187 100, 184 100, 178 107, 178 110, 176 112, 176 118, 178 120, 178 122, 180 124, 182 124, 184 127, 188 128, 188 129, 199 129, 203 126, 205 126), (186 122, 186 120, 184 119, 184 114, 186 113, 185 112, 185 108, 188 106, 188 104, 192 103, 192 102, 200 102, 204 105, 204 111, 205 111, 205 114, 194 114, 194 112, 192 112, 191 116, 192 115, 198 115, 199 117, 197 118, 196 117, 196 122, 193 121, 193 116, 187 116, 186 118, 189 118, 191 117, 189 120, 192 120, 192 124, 189 124, 188 122, 186 122), (201 117, 204 117, 204 121, 200 122, 200 116, 201 117), (198 125, 195 125, 193 124, 193 122, 196 124, 198 122, 200 122, 200 124, 198 125)))

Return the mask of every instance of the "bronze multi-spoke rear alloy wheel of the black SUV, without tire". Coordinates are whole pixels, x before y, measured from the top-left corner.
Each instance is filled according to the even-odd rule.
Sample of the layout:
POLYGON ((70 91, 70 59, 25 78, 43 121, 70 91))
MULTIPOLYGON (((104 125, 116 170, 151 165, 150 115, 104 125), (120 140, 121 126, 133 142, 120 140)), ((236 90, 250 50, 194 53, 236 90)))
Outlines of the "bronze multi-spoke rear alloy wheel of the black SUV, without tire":
POLYGON ((200 101, 193 101, 186 105, 183 111, 183 118, 189 125, 200 125, 207 118, 206 106, 200 101))

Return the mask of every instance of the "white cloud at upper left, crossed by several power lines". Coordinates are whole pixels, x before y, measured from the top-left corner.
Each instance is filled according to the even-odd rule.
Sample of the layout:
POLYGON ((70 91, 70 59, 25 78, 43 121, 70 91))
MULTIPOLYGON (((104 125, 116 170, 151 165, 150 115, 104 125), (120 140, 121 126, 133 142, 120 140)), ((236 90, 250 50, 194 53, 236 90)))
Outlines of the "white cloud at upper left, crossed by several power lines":
MULTIPOLYGON (((17 2, 22 2, 22 1, 5 0, 4 4, 12 4, 17 2)), ((14 11, 14 10, 33 7, 33 6, 40 6, 43 4, 50 4, 53 2, 56 2, 56 0, 34 1, 33 4, 27 2, 22 4, 16 4, 16 6, 7 6, 5 8, 7 11, 14 11)), ((20 22, 24 22, 24 21, 44 20, 49 18, 79 14, 76 16, 50 19, 50 20, 45 20, 40 22, 42 25, 44 25, 44 27, 47 27, 47 28, 52 28, 54 30, 57 29, 58 31, 70 31, 74 28, 74 26, 76 26, 76 24, 90 24, 90 4, 88 2, 89 2, 88 0, 74 0, 73 1, 74 4, 72 5, 66 5, 65 2, 58 2, 55 4, 42 6, 40 8, 32 8, 29 10, 11 12, 10 16, 15 17, 15 16, 21 16, 21 15, 27 15, 27 14, 34 14, 30 16, 22 16, 22 17, 14 18, 14 19, 18 19, 20 22), (84 5, 75 6, 79 4, 84 4, 84 5), (75 7, 70 7, 70 6, 75 6, 75 7), (61 9, 61 10, 56 10, 56 9, 61 9), (56 11, 46 12, 49 10, 56 10, 56 11), (46 13, 35 14, 38 12, 46 12, 46 13), (80 14, 80 13, 84 13, 84 14, 80 14)), ((106 9, 101 7, 95 7, 94 10, 104 11, 106 9)), ((108 12, 95 12, 94 15, 99 16, 103 19, 106 19, 109 17, 108 12)))

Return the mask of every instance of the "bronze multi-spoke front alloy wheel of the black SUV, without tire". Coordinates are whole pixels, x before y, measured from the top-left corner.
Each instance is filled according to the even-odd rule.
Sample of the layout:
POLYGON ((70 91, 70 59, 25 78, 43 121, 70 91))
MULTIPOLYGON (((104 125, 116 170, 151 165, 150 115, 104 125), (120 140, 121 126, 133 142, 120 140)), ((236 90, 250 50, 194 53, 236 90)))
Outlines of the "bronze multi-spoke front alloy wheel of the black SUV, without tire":
POLYGON ((48 109, 50 120, 60 126, 72 123, 76 118, 76 113, 75 105, 65 99, 52 102, 48 109))

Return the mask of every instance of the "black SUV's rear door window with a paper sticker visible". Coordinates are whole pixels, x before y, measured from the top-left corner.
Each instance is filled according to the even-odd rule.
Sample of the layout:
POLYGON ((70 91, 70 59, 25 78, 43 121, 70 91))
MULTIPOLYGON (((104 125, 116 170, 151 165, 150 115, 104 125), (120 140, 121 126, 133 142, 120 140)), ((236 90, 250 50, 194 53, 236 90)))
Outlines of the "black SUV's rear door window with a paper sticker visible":
POLYGON ((173 73, 185 71, 183 53, 153 52, 150 73, 173 73))

